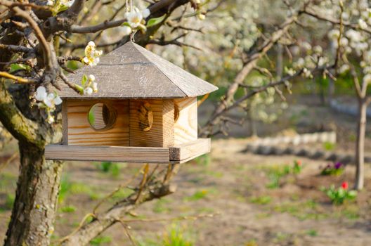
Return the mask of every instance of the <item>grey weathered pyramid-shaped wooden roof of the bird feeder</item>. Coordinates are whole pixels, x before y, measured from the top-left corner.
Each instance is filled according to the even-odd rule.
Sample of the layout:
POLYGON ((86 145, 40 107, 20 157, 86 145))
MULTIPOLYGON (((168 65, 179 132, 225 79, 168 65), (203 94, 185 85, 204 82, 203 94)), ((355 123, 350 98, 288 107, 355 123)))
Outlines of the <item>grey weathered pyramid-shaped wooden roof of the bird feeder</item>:
POLYGON ((218 89, 131 41, 102 56, 98 65, 84 66, 67 78, 81 84, 84 75, 96 77, 97 93, 82 96, 63 85, 60 97, 184 98, 218 89))

